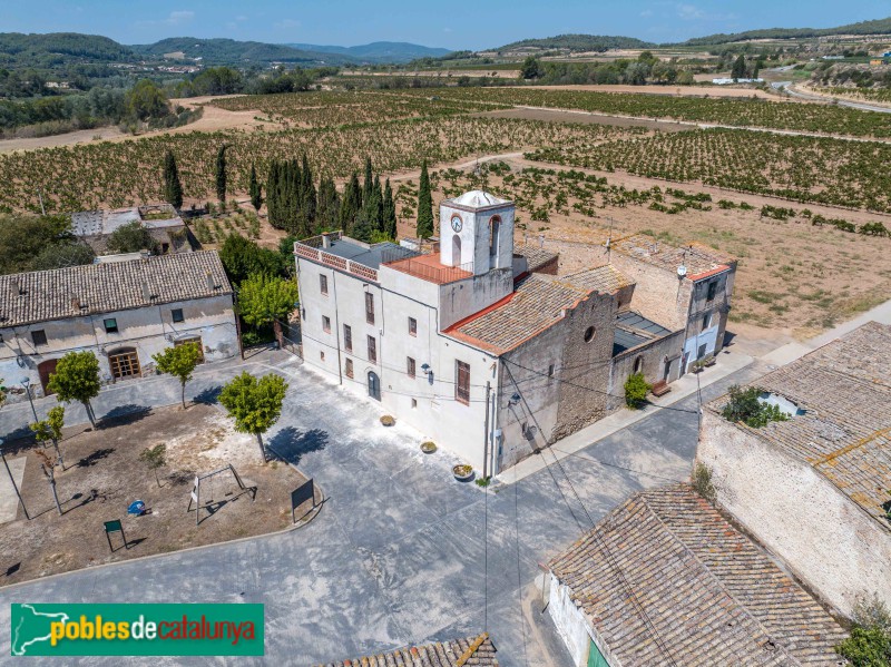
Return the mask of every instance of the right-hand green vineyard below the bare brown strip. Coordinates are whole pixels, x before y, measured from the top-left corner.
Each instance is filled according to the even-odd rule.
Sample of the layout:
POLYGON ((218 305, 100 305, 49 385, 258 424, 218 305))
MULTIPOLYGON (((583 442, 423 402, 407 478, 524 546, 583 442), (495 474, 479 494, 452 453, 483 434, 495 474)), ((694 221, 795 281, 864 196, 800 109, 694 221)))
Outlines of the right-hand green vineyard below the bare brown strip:
POLYGON ((891 145, 708 129, 540 148, 529 159, 891 212, 891 145))

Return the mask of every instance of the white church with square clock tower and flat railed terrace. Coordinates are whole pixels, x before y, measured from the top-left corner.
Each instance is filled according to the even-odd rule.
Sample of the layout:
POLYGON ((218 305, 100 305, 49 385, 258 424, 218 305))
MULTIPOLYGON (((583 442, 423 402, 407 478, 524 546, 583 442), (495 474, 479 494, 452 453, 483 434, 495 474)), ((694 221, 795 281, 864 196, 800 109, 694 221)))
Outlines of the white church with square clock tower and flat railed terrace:
MULTIPOLYGON (((634 310, 636 283, 608 256, 549 275, 540 248, 515 247, 513 226, 512 202, 473 190, 442 202, 430 254, 341 233, 294 248, 304 362, 380 401, 478 477, 619 408, 628 374, 667 383, 689 363, 689 316, 663 326, 634 310)), ((593 259, 601 252, 594 247, 593 259)), ((630 252, 625 259, 631 269, 640 262, 630 252)), ((735 262, 712 265, 709 276, 735 271, 735 262)), ((640 278, 655 281, 647 268, 640 278)), ((681 287, 689 277, 669 278, 673 305, 692 315, 683 294, 696 291, 681 287)), ((714 354, 721 342, 711 340, 714 354)))

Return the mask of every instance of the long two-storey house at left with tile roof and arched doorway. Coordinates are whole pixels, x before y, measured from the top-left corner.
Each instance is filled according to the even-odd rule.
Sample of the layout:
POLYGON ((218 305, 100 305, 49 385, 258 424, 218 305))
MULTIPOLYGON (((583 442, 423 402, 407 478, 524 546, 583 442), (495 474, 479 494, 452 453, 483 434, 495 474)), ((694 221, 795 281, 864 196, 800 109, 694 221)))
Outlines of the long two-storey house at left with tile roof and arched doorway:
POLYGON ((109 383, 151 373, 151 355, 170 345, 198 343, 206 361, 238 353, 232 286, 214 251, 2 275, 0 294, 0 377, 27 379, 38 396, 72 351, 94 352, 109 383))

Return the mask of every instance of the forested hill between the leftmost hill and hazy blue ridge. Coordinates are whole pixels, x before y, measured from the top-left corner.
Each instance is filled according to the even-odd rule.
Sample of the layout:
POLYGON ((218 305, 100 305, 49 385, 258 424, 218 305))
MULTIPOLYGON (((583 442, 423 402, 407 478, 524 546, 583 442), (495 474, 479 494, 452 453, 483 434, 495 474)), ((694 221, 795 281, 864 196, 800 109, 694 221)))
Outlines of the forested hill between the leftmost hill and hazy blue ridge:
POLYGON ((343 65, 349 61, 347 58, 335 53, 219 38, 170 37, 151 45, 135 45, 130 48, 144 58, 161 58, 165 53, 182 52, 185 58, 200 58, 206 65, 268 65, 270 62, 343 65))

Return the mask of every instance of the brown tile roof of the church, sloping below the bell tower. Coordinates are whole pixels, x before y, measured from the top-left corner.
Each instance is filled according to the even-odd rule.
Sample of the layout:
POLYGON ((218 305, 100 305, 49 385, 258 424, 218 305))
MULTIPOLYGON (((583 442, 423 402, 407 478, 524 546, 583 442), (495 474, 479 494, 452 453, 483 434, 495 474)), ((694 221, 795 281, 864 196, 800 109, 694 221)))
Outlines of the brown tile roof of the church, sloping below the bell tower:
POLYGON ((481 311, 446 330, 446 334, 502 354, 562 317, 590 291, 539 274, 527 276, 496 307, 481 311))

